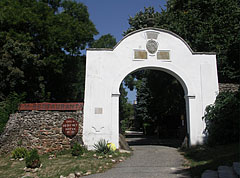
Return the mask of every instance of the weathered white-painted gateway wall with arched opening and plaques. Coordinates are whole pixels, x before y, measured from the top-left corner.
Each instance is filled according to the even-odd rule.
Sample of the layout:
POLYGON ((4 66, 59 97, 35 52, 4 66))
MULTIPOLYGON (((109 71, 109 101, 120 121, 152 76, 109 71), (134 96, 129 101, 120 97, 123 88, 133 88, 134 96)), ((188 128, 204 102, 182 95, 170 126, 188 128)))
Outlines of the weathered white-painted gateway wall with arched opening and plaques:
MULTIPOLYGON (((156 35, 155 35, 156 36, 156 35)), ((202 143, 202 117, 218 93, 215 53, 196 53, 176 34, 156 28, 135 31, 114 49, 88 49, 84 101, 83 141, 89 149, 100 139, 118 147, 119 87, 122 80, 139 69, 156 69, 174 76, 185 92, 190 145, 202 143), (158 51, 169 51, 170 60, 134 59, 134 50, 146 50, 146 32, 157 33, 158 51)), ((157 81, 156 81, 157 82, 157 81)))

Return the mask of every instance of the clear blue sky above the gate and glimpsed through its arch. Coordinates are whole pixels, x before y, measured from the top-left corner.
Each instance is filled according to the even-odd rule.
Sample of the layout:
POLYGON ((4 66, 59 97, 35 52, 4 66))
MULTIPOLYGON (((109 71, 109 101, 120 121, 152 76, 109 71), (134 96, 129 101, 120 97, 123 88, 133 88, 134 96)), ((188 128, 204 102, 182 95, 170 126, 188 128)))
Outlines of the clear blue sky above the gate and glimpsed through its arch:
MULTIPOLYGON (((95 24, 99 34, 110 33, 117 42, 123 36, 123 32, 129 28, 128 19, 134 17, 139 11, 144 11, 144 7, 154 7, 155 11, 160 12, 165 8, 166 0, 77 0, 88 7, 90 19, 95 24)), ((132 103, 136 98, 136 91, 128 91, 128 101, 132 103)))

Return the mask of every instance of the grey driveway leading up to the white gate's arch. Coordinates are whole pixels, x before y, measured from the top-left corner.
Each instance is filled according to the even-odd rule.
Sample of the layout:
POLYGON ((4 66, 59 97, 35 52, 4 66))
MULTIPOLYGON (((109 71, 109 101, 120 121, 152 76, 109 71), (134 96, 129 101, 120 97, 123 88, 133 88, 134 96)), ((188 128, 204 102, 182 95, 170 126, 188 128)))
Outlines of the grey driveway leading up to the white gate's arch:
MULTIPOLYGON (((130 138, 130 143, 134 139, 130 138)), ((126 161, 105 173, 86 178, 190 178, 182 167, 183 157, 176 148, 161 144, 135 144, 131 148, 133 155, 126 161)))

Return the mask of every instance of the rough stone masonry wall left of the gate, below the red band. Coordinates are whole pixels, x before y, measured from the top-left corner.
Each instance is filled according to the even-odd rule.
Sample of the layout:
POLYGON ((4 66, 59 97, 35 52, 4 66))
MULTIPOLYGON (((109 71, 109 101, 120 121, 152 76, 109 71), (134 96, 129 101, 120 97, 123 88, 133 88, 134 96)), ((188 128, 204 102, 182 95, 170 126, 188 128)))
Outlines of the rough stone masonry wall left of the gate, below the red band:
POLYGON ((17 146, 36 148, 40 154, 69 149, 72 142, 82 140, 82 111, 24 111, 12 114, 0 136, 0 153, 10 153, 17 146), (70 139, 62 133, 67 118, 79 122, 78 134, 70 139))

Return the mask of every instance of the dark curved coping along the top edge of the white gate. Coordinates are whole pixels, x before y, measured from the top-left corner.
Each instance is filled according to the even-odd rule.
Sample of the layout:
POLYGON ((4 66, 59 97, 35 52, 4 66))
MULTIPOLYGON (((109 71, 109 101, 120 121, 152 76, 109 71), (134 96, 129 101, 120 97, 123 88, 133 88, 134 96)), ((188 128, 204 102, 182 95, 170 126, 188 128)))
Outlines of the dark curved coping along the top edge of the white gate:
POLYGON ((188 45, 188 43, 183 39, 181 38, 179 35, 177 35, 176 33, 173 33, 169 30, 165 30, 165 29, 160 29, 160 28, 153 28, 153 27, 148 27, 148 28, 142 28, 142 29, 139 29, 139 30, 136 30, 136 31, 133 31, 129 34, 127 34, 126 36, 124 36, 113 48, 88 48, 87 50, 90 50, 90 51, 113 51, 115 50, 124 40, 126 40, 129 36, 132 36, 136 33, 140 33, 140 32, 143 32, 143 31, 149 31, 149 30, 153 30, 153 31, 158 31, 158 32, 163 32, 163 33, 168 33, 172 36, 174 36, 175 38, 178 38, 179 40, 181 40, 184 45, 189 49, 189 51, 194 55, 194 54, 206 54, 206 55, 216 55, 215 52, 194 52, 191 47, 188 45))

